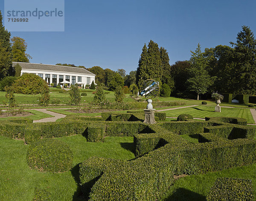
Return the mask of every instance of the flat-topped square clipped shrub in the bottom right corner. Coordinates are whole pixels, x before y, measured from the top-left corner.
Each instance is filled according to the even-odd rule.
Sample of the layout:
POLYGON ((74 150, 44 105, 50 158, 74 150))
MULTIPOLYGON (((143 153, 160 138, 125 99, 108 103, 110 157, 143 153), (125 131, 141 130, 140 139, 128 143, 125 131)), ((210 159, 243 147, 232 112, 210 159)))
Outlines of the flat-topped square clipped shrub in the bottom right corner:
POLYGON ((217 178, 206 200, 253 201, 252 181, 242 178, 217 178))

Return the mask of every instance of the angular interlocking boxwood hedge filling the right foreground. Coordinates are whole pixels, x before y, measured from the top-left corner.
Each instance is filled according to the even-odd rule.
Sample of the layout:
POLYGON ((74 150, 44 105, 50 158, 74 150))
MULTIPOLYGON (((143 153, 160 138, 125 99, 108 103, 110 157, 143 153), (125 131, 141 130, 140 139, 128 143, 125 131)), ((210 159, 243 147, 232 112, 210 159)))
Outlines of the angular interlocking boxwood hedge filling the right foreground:
POLYGON ((148 132, 134 135, 135 152, 139 158, 126 162, 89 158, 81 164, 81 185, 87 186, 84 192, 88 194, 90 191, 90 201, 153 201, 172 184, 172 174, 195 174, 255 163, 256 141, 251 139, 255 129, 239 125, 238 120, 232 120, 237 124, 209 118, 206 122, 148 125, 148 132), (205 127, 214 126, 218 132, 204 133, 205 127), (226 132, 239 131, 241 138, 230 140, 230 135, 217 135, 225 126, 226 132), (199 143, 192 144, 180 137, 195 133, 200 133, 199 143))

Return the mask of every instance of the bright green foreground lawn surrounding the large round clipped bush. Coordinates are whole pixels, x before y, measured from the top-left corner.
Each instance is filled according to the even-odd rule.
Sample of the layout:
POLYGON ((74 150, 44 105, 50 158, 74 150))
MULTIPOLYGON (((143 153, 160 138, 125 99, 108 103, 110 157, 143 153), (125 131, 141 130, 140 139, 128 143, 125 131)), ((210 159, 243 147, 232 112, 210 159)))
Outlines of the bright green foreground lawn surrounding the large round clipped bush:
POLYGON ((97 155, 105 158, 130 160, 132 137, 107 137, 104 143, 90 143, 82 136, 59 138, 69 144, 74 154, 73 167, 63 173, 38 172, 30 169, 26 163, 28 145, 23 141, 0 136, 0 200, 30 201, 34 196, 34 188, 47 188, 51 192, 51 200, 80 201, 79 163, 97 155))

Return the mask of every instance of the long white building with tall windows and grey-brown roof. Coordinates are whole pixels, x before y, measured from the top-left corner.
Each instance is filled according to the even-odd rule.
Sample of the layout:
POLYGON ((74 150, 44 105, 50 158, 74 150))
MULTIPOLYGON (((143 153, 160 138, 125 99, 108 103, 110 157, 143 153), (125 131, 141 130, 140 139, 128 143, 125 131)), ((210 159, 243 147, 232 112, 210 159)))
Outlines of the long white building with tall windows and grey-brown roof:
MULTIPOLYGON (((72 85, 76 83, 80 85, 95 83, 95 75, 86 69, 70 66, 58 66, 41 63, 23 63, 12 62, 12 66, 19 64, 21 66, 21 75, 23 73, 33 73, 44 79, 49 85, 51 83, 56 86, 64 81, 72 85)), ((70 85, 69 84, 69 85, 70 85)))

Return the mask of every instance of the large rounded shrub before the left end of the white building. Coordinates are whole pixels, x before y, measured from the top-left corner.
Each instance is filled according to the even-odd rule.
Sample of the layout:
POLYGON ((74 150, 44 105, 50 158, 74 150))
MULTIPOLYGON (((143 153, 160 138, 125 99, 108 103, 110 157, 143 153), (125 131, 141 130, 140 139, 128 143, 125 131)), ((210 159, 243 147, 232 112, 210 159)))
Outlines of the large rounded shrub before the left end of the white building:
MULTIPOLYGON (((32 73, 23 73, 20 78, 13 83, 15 93, 19 94, 39 94, 49 87, 45 80, 32 73)), ((49 89, 48 89, 49 91, 49 89)))

